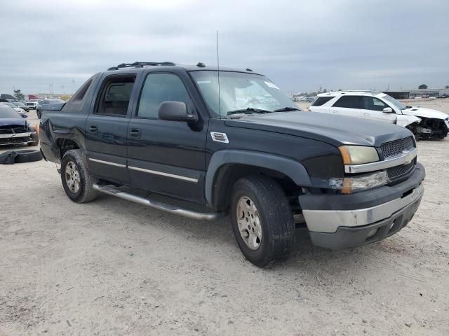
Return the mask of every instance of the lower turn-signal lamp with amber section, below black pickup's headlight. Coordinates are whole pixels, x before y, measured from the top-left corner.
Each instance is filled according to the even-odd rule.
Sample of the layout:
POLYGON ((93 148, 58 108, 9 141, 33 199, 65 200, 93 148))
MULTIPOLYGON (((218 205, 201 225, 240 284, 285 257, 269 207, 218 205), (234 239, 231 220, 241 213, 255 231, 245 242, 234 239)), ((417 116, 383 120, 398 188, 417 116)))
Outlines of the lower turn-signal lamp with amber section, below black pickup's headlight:
POLYGON ((373 189, 389 183, 387 172, 341 177, 330 179, 328 181, 331 189, 340 190, 340 193, 342 194, 352 194, 357 191, 373 189))

